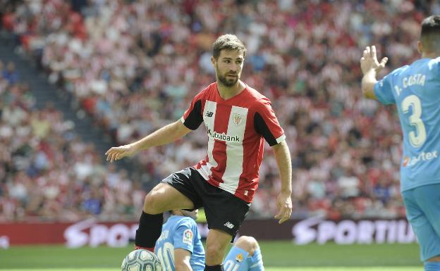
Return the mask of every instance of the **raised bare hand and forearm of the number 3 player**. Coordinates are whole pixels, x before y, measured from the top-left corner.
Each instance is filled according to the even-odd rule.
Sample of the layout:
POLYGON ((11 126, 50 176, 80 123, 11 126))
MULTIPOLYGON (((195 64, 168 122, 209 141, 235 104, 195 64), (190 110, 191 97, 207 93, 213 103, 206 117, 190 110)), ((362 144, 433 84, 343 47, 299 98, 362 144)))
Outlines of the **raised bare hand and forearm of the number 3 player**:
POLYGON ((360 58, 360 68, 362 69, 362 93, 365 98, 376 99, 374 94, 374 84, 377 83, 377 74, 385 67, 388 58, 377 61, 376 46, 365 47, 362 58, 360 58))

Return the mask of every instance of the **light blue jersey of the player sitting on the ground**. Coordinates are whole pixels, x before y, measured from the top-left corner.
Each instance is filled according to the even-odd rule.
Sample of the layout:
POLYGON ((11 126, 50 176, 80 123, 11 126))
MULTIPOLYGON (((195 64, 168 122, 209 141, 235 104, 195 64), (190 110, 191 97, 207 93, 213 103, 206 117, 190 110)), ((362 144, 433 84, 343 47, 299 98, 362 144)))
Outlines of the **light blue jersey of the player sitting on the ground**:
POLYGON ((192 218, 171 215, 162 226, 161 236, 157 239, 154 248, 154 253, 161 260, 162 270, 176 271, 175 248, 190 251, 190 265, 194 271, 204 270, 204 248, 200 241, 197 223, 192 218))

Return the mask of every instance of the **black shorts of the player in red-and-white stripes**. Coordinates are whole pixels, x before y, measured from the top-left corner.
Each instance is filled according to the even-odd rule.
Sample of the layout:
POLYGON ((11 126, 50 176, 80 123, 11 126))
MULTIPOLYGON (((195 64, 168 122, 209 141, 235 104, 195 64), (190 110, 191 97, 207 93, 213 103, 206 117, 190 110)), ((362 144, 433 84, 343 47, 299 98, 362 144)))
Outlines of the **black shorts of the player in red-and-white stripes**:
POLYGON ((236 237, 249 212, 250 203, 228 191, 209 184, 195 168, 185 168, 162 180, 193 201, 194 208, 204 207, 209 229, 221 229, 236 237))

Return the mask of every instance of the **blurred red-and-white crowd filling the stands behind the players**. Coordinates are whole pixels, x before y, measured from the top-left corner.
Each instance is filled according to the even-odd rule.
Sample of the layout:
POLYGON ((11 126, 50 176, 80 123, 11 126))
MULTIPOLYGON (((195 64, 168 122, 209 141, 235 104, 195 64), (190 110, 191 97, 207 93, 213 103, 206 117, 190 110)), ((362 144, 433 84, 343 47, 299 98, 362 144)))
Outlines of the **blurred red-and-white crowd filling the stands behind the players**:
MULTIPOLYGON (((379 57, 389 57, 385 73, 415 60, 420 22, 432 13, 440 13, 438 1, 40 0, 8 6, 1 23, 18 51, 32 56, 51 84, 73 94, 115 144, 181 118, 193 96, 215 80, 212 42, 219 34, 237 34, 247 46, 242 79, 271 99, 286 132, 293 158, 293 218, 396 218, 404 215, 398 173, 402 134, 393 107, 362 99, 359 59, 365 46, 375 44, 379 57)), ((27 97, 25 84, 6 86, 27 97)), ((2 95, 9 92, 0 89, 2 95)), ((123 172, 90 163, 96 161, 93 146, 66 139, 73 131, 61 115, 49 114, 50 108, 32 111, 32 103, 1 101, 3 112, 7 106, 20 108, 29 117, 18 127, 32 130, 30 117, 59 124, 49 125, 44 138, 29 132, 26 137, 37 143, 25 156, 27 167, 6 180, 0 176, 1 200, 7 202, 0 208, 6 210, 21 204, 23 214, 42 206, 46 213, 37 215, 71 219, 81 210, 117 217, 132 212, 130 204, 141 204, 140 184, 159 182, 205 156, 206 134, 200 128, 176 144, 132 158, 140 176, 132 182, 123 172), (65 162, 52 165, 43 146, 65 162), (33 170, 39 160, 50 173, 33 170), (45 196, 51 189, 42 189, 33 199, 35 184, 51 187, 56 196, 45 196), (101 208, 87 196, 69 194, 75 191, 69 186, 89 199, 104 198, 101 208), (66 212, 57 213, 63 208, 66 212)), ((7 122, 3 117, 2 125, 11 130, 7 122)), ((1 140, 16 146, 12 139, 1 140)), ((20 142, 25 141, 30 142, 25 137, 20 142)), ((279 175, 266 147, 251 217, 276 213, 279 175)), ((15 152, 5 150, 0 148, 2 159, 15 161, 15 152)), ((6 219, 21 214, 11 215, 6 219)))

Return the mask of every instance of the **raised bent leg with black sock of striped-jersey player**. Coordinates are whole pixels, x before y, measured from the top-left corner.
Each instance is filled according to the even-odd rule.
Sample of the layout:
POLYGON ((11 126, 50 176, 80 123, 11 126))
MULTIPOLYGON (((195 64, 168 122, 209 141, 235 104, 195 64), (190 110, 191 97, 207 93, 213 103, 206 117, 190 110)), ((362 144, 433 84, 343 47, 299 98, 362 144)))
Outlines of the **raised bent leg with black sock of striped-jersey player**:
POLYGON ((161 234, 163 213, 167 210, 193 209, 200 202, 191 186, 191 171, 187 168, 166 177, 145 196, 139 227, 136 230, 136 248, 154 250, 161 234))

